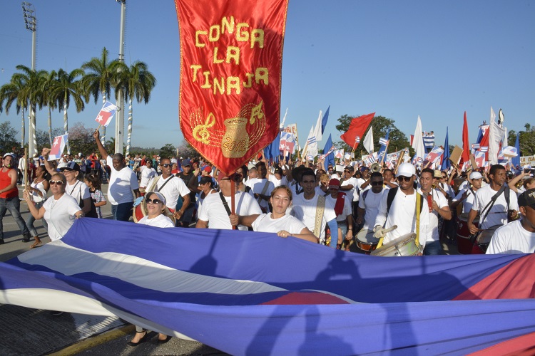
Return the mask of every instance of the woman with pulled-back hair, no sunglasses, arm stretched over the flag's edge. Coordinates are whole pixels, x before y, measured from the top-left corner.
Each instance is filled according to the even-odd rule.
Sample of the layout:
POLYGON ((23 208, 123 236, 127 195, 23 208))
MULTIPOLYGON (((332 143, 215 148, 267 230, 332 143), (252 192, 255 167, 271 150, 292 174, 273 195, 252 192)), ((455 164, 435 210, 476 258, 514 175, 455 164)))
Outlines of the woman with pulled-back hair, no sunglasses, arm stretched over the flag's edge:
POLYGON ((233 226, 245 225, 253 228, 253 231, 276 232, 280 237, 294 236, 297 239, 311 241, 317 244, 317 237, 294 216, 286 214, 286 209, 292 204, 292 191, 285 185, 276 187, 271 192, 270 203, 272 213, 254 214, 248 216, 230 215, 230 223, 233 226))

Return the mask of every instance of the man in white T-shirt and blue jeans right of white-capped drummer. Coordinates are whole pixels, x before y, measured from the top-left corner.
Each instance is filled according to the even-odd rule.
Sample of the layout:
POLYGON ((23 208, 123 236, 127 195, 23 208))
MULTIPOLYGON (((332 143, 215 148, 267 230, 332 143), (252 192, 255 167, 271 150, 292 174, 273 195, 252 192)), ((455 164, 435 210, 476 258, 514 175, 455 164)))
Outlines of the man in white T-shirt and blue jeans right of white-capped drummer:
POLYGON ((439 216, 444 220, 452 219, 452 211, 449 210, 448 201, 444 194, 437 189, 433 189, 434 182, 433 169, 425 168, 420 174, 420 184, 422 187, 417 192, 424 196, 424 209, 429 210, 429 226, 427 229, 427 241, 424 255, 438 255, 442 251, 439 241, 439 216))

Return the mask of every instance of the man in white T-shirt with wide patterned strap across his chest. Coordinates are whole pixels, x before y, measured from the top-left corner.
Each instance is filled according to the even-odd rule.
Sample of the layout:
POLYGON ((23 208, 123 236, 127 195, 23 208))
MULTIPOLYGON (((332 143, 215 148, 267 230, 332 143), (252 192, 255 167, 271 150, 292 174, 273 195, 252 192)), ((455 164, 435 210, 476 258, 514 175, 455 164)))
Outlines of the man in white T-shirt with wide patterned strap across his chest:
MULTIPOLYGON (((331 241, 338 241, 335 206, 332 206, 330 201, 315 192, 316 176, 312 169, 305 168, 302 170, 300 185, 303 192, 294 197, 290 207, 290 214, 302 221, 312 231, 312 234, 315 234, 320 239, 320 243, 326 243, 326 226, 329 226, 331 231, 331 241), (319 199, 325 199, 325 204, 318 204, 319 199), (321 205, 323 206, 323 214, 320 214, 320 219, 316 221, 317 209, 322 209, 321 205)), ((336 244, 333 242, 329 246, 335 248, 336 244)))

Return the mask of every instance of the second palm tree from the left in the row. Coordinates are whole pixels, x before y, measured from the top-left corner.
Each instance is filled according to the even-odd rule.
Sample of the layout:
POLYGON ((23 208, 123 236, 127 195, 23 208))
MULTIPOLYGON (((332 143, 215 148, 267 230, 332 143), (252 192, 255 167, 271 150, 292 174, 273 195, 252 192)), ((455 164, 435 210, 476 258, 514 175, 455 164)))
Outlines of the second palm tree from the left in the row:
POLYGON ((21 90, 21 103, 29 103, 30 110, 30 130, 33 132, 32 140, 34 152, 28 152, 29 155, 37 153, 37 137, 36 137, 36 110, 43 107, 43 83, 46 80, 46 70, 31 70, 30 68, 19 64, 16 69, 21 70, 21 73, 14 73, 12 80, 21 81, 23 86, 21 90))

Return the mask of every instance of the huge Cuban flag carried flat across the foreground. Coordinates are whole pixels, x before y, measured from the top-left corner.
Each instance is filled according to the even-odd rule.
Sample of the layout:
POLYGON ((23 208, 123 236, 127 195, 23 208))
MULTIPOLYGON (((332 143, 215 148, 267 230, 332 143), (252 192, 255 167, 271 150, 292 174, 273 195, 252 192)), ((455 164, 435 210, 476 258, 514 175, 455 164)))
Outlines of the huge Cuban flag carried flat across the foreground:
POLYGON ((118 315, 232 355, 518 355, 535 345, 534 281, 534 254, 376 257, 80 219, 0 263, 0 303, 118 315))

